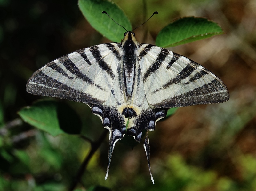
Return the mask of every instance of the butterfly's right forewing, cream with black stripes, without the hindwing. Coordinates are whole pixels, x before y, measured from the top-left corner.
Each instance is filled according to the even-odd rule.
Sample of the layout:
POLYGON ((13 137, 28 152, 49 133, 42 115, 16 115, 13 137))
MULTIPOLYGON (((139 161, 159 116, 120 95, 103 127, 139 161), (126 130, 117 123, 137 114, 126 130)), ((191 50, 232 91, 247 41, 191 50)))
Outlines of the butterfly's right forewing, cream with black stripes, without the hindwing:
POLYGON ((229 99, 225 84, 198 63, 149 44, 140 44, 139 54, 146 98, 153 107, 184 107, 229 99))

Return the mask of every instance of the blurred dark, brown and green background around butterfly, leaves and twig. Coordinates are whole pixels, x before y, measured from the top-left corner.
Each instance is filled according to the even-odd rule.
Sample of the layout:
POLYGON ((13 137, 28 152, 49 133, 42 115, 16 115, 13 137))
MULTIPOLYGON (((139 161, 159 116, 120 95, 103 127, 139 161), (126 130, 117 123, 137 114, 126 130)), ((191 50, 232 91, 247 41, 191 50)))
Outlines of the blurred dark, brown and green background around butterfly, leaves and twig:
MULTIPOLYGON (((107 138, 92 158, 80 187, 255 190, 255 1, 115 2, 133 27, 154 11, 159 12, 146 26, 136 29, 139 42, 145 39, 143 42, 154 43, 159 30, 175 18, 199 16, 217 22, 226 34, 170 50, 220 77, 230 92, 230 100, 180 108, 172 117, 157 123, 156 130, 149 134, 155 186, 150 181, 142 144, 131 150, 117 143, 105 181, 107 138)), ((76 1, 0 0, 0 18, 0 155, 4 158, 0 188, 65 190, 90 145, 76 136, 52 137, 34 129, 20 120, 17 111, 41 98, 25 90, 28 78, 38 68, 72 51, 109 40, 87 23, 76 1), (16 158, 18 155, 22 156, 16 158)), ((81 116, 83 134, 97 139, 103 131, 100 119, 90 114, 85 104, 66 103, 81 116)))

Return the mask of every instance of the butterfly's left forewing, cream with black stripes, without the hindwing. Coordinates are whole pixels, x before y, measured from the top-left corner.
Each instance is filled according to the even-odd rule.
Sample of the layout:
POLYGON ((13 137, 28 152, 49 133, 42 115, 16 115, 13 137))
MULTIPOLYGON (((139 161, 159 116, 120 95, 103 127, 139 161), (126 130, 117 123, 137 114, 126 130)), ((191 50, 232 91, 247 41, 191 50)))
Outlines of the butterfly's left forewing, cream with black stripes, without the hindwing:
POLYGON ((62 56, 37 70, 26 90, 83 103, 103 103, 121 60, 119 43, 100 44, 62 56))

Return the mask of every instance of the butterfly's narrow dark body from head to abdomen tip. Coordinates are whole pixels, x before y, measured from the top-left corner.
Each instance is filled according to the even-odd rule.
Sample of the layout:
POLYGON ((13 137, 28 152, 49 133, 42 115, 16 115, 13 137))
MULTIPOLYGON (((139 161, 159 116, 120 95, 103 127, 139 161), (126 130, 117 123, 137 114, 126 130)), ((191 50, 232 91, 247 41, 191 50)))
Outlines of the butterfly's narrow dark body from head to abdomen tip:
POLYGON ((137 59, 138 42, 134 33, 129 31, 125 34, 121 44, 123 47, 123 81, 127 100, 132 96, 135 79, 135 64, 137 59))

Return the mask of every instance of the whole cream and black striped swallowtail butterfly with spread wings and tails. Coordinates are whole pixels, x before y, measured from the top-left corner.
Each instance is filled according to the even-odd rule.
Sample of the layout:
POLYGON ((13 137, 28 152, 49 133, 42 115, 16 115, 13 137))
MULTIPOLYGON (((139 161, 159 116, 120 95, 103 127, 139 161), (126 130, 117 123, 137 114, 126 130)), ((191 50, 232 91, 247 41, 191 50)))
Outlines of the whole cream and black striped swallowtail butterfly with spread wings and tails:
POLYGON ((49 62, 28 80, 26 90, 87 104, 109 130, 108 177, 116 142, 125 134, 142 140, 171 107, 221 103, 229 99, 223 82, 188 58, 150 44, 132 32, 121 43, 84 48, 49 62), (127 125, 127 121, 128 125, 127 125))

